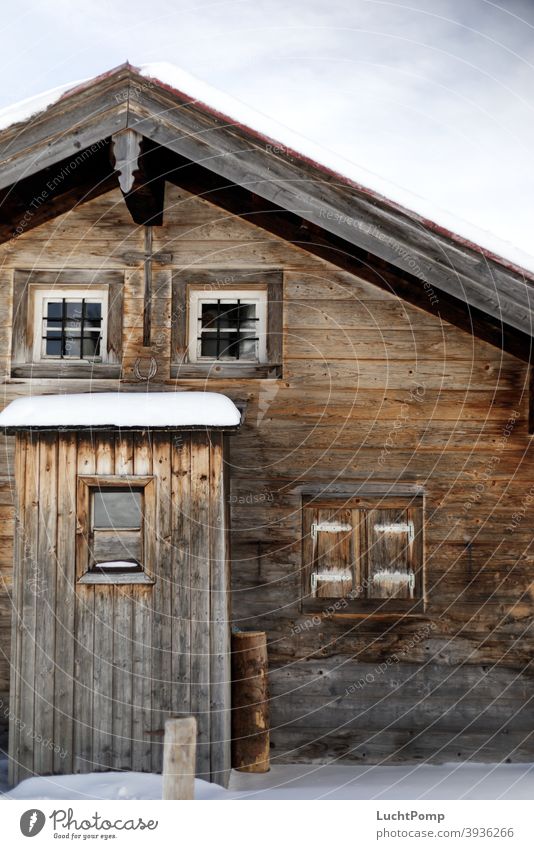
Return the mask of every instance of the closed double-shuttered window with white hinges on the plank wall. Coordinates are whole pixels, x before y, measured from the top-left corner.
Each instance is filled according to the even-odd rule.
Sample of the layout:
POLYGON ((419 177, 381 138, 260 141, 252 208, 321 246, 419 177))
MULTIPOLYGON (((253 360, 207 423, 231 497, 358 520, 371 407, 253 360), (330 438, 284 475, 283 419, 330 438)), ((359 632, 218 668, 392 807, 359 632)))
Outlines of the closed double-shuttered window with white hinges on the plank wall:
POLYGON ((303 606, 417 610, 423 601, 422 497, 303 505, 303 606), (340 604, 343 600, 343 604, 340 604))

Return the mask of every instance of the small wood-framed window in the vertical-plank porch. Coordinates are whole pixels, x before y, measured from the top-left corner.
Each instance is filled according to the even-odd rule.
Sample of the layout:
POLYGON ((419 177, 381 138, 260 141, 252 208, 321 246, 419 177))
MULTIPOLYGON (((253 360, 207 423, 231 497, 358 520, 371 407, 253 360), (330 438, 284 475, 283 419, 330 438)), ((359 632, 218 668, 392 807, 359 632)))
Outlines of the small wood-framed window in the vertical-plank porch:
POLYGON ((78 478, 80 583, 153 583, 151 477, 78 478))

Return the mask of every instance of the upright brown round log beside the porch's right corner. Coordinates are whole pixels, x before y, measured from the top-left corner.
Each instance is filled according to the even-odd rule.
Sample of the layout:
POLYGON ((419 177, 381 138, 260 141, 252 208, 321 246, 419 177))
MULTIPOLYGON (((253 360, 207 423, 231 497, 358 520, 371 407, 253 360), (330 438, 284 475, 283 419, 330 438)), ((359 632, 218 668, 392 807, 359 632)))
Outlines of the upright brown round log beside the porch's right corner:
POLYGON ((264 631, 232 635, 232 766, 269 771, 269 691, 264 631))

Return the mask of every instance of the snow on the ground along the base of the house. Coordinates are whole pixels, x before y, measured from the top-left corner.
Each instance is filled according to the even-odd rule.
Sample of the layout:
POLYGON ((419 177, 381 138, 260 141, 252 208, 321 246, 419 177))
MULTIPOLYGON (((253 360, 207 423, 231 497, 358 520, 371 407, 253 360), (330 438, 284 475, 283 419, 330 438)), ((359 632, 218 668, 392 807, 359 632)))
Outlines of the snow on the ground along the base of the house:
MULTIPOLYGON (((29 778, 9 791, 5 764, 0 761, 3 799, 161 799, 161 775, 140 772, 29 778)), ((532 799, 534 764, 274 766, 263 775, 234 770, 228 790, 197 779, 195 795, 201 800, 532 799)))

